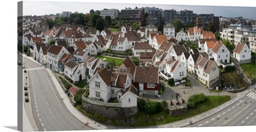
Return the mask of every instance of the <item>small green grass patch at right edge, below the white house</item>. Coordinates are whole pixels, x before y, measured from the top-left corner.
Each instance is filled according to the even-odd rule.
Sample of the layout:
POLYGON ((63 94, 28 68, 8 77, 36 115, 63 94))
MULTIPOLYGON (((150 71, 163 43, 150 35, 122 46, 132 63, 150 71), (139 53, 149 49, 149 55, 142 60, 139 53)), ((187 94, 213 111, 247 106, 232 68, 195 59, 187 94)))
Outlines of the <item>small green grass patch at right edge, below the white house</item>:
POLYGON ((246 75, 252 79, 256 77, 256 64, 251 62, 247 64, 241 64, 241 68, 243 68, 246 75))

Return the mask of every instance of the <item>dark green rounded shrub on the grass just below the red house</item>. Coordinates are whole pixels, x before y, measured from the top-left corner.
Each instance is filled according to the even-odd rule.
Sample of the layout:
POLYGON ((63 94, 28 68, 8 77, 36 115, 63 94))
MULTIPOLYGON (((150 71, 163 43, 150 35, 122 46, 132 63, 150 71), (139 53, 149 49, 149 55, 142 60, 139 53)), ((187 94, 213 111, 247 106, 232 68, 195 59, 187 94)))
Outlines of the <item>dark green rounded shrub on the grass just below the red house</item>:
POLYGON ((147 114, 157 114, 162 111, 162 105, 157 101, 147 100, 145 103, 145 112, 147 114))

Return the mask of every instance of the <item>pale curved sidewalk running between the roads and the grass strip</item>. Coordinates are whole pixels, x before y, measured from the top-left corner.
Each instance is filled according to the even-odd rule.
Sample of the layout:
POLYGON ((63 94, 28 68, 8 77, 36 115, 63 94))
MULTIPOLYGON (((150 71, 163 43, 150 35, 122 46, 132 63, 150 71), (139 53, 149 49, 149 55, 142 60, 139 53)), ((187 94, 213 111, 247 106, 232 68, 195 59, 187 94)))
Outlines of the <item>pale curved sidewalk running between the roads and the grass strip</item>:
MULTIPOLYGON (((39 62, 33 60, 31 57, 27 57, 29 60, 36 62, 37 64, 40 64, 39 62)), ((122 127, 115 127, 115 126, 106 126, 104 124, 100 124, 99 122, 93 121, 92 119, 86 117, 85 115, 81 114, 81 112, 79 112, 73 105, 72 103, 70 103, 67 94, 65 94, 65 92, 63 91, 63 89, 61 88, 61 85, 58 82, 58 78, 56 78, 54 76, 54 73, 52 73, 52 71, 49 68, 46 68, 46 70, 48 71, 49 75, 52 78, 52 81, 54 82, 54 84, 56 85, 56 89, 58 90, 58 92, 60 93, 60 96, 63 100, 63 103, 65 104, 65 106, 67 106, 67 109, 70 111, 70 113, 72 115, 74 115, 77 119, 79 119, 79 121, 83 122, 84 124, 94 128, 94 129, 129 129, 129 128, 122 128, 122 127)), ((233 103, 235 103, 236 101, 238 101, 239 99, 243 98, 243 96, 248 92, 252 90, 251 86, 250 88, 246 89, 246 91, 240 92, 236 94, 236 98, 228 101, 227 103, 220 105, 216 108, 213 108, 212 110, 209 110, 207 112, 204 112, 202 114, 196 115, 194 117, 190 117, 188 119, 184 119, 182 121, 177 121, 177 122, 172 122, 172 123, 168 123, 168 124, 162 124, 159 126, 148 126, 148 127, 143 127, 143 128, 182 128, 184 126, 188 126, 189 122, 197 122, 200 121, 202 119, 205 119, 206 117, 209 117, 213 114, 215 114, 216 112, 219 112, 220 110, 223 110, 224 108, 227 108, 228 106, 232 105, 233 103)), ((195 91, 195 88, 192 88, 195 91)), ((181 89, 183 91, 183 89, 181 89)), ((181 93, 181 92, 180 92, 181 93)), ((216 93, 210 93, 209 91, 207 92, 207 94, 216 94, 216 93)))

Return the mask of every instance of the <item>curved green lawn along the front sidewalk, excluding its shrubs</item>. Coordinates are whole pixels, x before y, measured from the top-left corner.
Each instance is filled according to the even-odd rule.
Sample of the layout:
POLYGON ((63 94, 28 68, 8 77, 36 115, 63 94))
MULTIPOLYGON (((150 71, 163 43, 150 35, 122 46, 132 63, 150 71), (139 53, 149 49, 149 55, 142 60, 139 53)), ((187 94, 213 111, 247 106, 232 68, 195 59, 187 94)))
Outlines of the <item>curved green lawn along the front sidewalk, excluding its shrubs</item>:
MULTIPOLYGON (((195 108, 189 108, 188 113, 185 115, 179 116, 171 116, 166 112, 160 112, 158 114, 146 114, 145 112, 139 111, 138 114, 132 115, 129 117, 124 117, 124 119, 106 119, 104 122, 100 121, 99 118, 95 118, 95 120, 99 120, 104 124, 109 124, 113 126, 123 126, 123 127, 145 127, 145 126, 154 126, 159 124, 166 124, 170 122, 179 121, 182 119, 187 119, 189 117, 193 117, 195 115, 206 112, 207 110, 211 110, 212 108, 219 106, 231 98, 230 96, 206 96, 207 99, 204 103, 198 104, 195 108), (219 103, 218 103, 219 100, 219 103)), ((83 110, 80 109, 82 113, 83 110)))

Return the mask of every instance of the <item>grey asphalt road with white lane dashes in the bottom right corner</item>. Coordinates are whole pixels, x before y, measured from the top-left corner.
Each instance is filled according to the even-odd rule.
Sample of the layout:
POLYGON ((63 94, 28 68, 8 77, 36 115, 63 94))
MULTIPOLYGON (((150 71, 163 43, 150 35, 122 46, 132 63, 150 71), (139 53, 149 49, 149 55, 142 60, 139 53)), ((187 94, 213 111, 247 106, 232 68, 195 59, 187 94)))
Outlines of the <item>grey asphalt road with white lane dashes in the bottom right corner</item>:
POLYGON ((256 91, 248 92, 243 98, 220 112, 186 127, 209 126, 255 126, 256 91))

